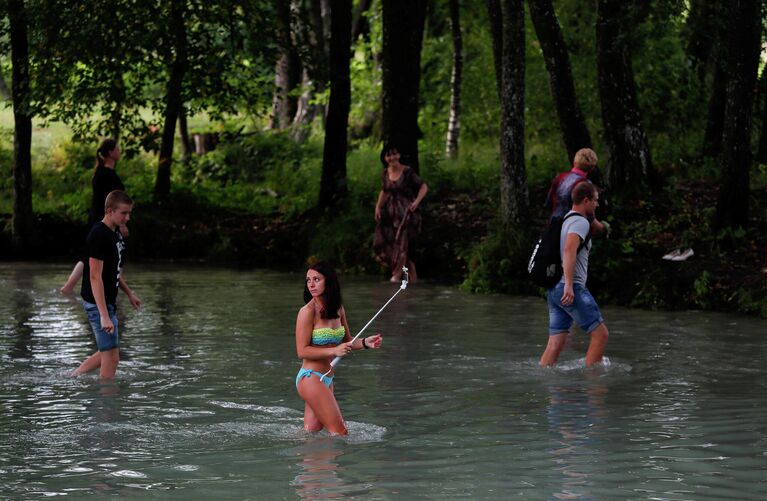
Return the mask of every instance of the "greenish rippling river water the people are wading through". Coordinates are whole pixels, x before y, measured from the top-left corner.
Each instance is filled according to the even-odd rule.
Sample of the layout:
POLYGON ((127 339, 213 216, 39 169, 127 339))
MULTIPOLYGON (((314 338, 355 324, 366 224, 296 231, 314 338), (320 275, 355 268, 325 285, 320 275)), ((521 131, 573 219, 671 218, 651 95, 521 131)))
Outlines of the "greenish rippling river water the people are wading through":
MULTIPOLYGON (((552 369, 540 298, 419 283, 338 366, 350 435, 302 429, 302 273, 129 265, 118 377, 68 265, 0 264, 0 498, 767 499, 767 322, 603 308, 552 369)), ((342 277, 353 333, 396 291, 342 277)), ((598 292, 595 292, 597 299, 598 292)))

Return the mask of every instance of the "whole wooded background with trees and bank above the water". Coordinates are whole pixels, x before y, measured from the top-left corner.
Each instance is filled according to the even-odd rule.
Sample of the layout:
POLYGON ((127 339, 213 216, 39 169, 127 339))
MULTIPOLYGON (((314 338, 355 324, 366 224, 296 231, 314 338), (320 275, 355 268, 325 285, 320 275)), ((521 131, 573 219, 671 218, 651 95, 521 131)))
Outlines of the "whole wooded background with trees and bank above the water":
POLYGON ((546 190, 590 146, 600 302, 767 317, 760 0, 2 5, 0 258, 77 257, 115 137, 132 258, 382 273, 391 142, 430 188, 419 274, 542 293, 546 190))

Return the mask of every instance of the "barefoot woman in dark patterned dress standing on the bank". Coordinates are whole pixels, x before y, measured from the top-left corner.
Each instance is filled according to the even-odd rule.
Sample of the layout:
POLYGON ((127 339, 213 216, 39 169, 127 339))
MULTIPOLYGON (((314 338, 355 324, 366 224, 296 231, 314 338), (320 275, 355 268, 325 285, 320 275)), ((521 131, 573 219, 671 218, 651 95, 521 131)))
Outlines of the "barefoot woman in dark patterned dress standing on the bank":
POLYGON ((373 250, 378 262, 391 269, 392 282, 402 279, 403 266, 408 267, 413 282, 416 271, 409 254, 410 244, 421 231, 418 207, 429 188, 413 169, 400 163, 397 148, 384 147, 381 163, 383 188, 376 202, 373 250))

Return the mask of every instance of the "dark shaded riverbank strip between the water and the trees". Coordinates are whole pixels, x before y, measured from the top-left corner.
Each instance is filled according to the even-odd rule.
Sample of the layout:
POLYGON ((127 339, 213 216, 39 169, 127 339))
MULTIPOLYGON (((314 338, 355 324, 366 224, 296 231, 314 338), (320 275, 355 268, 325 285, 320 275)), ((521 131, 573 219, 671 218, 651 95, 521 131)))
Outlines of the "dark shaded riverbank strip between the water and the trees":
MULTIPOLYGON (((543 200, 546 187, 531 188, 543 200)), ((492 193, 438 189, 424 204, 423 232, 416 246, 419 275, 473 292, 541 294, 526 277, 530 244, 546 214, 533 204, 529 224, 499 238, 492 193)), ((716 231, 710 219, 716 186, 684 182, 651 202, 608 203, 602 217, 612 232, 595 242, 589 287, 600 303, 650 309, 704 309, 767 318, 767 190, 752 192, 746 231, 716 231), (692 249, 685 261, 664 260, 675 249, 692 249)), ((130 223, 129 258, 138 261, 301 268, 328 259, 346 273, 385 270, 373 259, 373 200, 351 197, 333 214, 252 215, 196 205, 188 198, 136 208, 130 223)), ((3 216, 6 227, 9 217, 3 216)), ((84 228, 64 218, 42 216, 39 240, 24 256, 0 236, 0 259, 66 260, 81 252, 84 228)))

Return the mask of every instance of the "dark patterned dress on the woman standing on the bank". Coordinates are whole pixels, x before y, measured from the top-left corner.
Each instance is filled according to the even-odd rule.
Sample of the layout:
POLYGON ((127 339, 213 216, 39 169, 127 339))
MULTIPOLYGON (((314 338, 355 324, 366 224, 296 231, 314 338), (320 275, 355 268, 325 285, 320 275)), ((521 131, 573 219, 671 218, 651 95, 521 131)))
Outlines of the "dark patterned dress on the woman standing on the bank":
POLYGON ((401 257, 408 255, 411 242, 421 231, 420 208, 415 212, 408 208, 418 196, 423 181, 413 169, 405 167, 396 181, 389 179, 388 169, 384 169, 381 182, 385 197, 381 219, 376 224, 373 250, 378 262, 394 270, 401 257))

